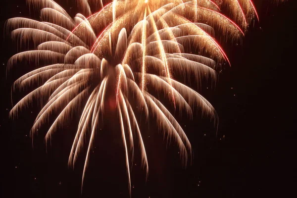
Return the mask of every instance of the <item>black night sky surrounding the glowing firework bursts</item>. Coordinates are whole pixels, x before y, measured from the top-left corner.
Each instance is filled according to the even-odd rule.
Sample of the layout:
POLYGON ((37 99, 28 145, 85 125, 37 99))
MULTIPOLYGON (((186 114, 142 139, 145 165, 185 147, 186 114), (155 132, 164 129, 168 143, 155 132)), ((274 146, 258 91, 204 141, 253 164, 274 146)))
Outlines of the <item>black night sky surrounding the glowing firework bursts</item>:
MULTIPOLYGON (((46 152, 42 135, 36 138, 34 149, 29 138, 36 107, 22 112, 17 120, 8 119, 10 87, 18 76, 6 78, 5 70, 17 50, 3 35, 3 27, 8 18, 28 16, 24 1, 1 0, 0 6, 1 197, 127 198, 120 140, 102 133, 81 195, 83 160, 74 171, 67 168, 73 125, 60 130, 46 152)), ((297 1, 277 6, 258 0, 255 4, 260 24, 250 28, 242 45, 223 45, 232 66, 222 68, 215 89, 205 84, 201 91, 218 112, 218 136, 209 118, 180 119, 195 153, 192 165, 184 169, 177 148, 166 150, 161 136, 153 135, 151 128, 148 182, 136 158, 133 198, 297 197, 297 1)), ((17 67, 21 70, 23 65, 17 67)))

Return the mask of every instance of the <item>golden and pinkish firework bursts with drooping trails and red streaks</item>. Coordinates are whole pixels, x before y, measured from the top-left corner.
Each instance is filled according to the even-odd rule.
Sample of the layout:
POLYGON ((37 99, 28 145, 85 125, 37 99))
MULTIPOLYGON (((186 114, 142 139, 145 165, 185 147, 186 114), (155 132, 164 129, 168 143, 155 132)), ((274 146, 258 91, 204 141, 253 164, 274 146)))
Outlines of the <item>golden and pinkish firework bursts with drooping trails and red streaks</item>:
POLYGON ((12 18, 7 28, 12 39, 33 42, 36 49, 12 56, 7 67, 20 61, 47 65, 15 81, 13 90, 38 87, 16 103, 10 115, 16 116, 33 99, 47 99, 31 135, 56 115, 45 136, 49 141, 73 112, 80 113, 69 166, 86 147, 83 184, 99 119, 106 111, 116 110, 130 193, 129 164, 136 139, 148 174, 137 112, 157 121, 160 131, 178 145, 186 164, 191 144, 158 93, 169 101, 166 104, 190 117, 199 106, 215 118, 213 106, 179 79, 191 75, 197 83, 204 78, 215 80, 217 63, 229 60, 214 32, 226 38, 223 41, 238 40, 258 18, 251 0, 76 0, 80 13, 74 18, 53 0, 27 1, 41 10, 41 21, 12 18))

